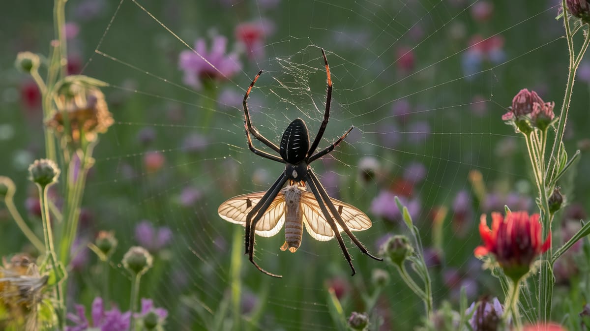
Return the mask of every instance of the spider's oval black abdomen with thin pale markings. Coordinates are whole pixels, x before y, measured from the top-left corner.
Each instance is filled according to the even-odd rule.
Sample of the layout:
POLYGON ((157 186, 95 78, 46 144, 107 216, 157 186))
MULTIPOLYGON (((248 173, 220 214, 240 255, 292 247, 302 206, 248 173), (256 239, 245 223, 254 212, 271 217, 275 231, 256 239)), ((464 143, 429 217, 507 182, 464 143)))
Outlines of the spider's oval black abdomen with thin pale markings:
POLYGON ((309 133, 302 119, 295 119, 287 126, 281 139, 279 153, 287 163, 299 163, 304 160, 309 150, 309 133))

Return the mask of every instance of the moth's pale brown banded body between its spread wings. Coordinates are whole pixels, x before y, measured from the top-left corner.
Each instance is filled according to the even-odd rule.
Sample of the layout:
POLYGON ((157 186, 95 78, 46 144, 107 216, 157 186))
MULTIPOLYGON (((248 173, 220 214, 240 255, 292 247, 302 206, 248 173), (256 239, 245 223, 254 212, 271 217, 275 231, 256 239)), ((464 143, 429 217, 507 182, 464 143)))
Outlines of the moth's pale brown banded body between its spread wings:
POLYGON ((285 199, 285 243, 281 251, 295 253, 303 236, 303 213, 300 208, 301 190, 296 185, 283 189, 285 199))

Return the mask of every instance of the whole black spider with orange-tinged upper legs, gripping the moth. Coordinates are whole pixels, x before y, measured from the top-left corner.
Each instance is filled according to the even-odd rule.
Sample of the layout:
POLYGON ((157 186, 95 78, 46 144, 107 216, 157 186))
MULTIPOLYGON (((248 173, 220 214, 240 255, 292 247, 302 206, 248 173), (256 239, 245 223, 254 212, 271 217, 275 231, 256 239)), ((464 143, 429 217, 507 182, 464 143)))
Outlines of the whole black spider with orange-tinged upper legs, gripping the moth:
POLYGON ((313 192, 320 208, 322 209, 322 213, 324 217, 330 224, 332 231, 334 231, 336 235, 336 239, 340 244, 340 248, 342 248, 342 252, 352 269, 352 275, 356 273, 355 268, 352 266, 352 260, 350 259, 350 254, 346 249, 346 245, 342 240, 342 236, 337 229, 337 225, 346 232, 348 237, 355 243, 355 245, 365 253, 369 255, 369 257, 374 258, 375 260, 382 261, 382 258, 378 258, 373 256, 369 251, 363 246, 363 244, 352 234, 348 226, 342 220, 339 211, 336 209, 335 205, 330 200, 326 189, 322 186, 322 183, 317 179, 317 176, 313 173, 312 168, 310 167, 310 163, 314 160, 322 158, 322 156, 326 155, 327 153, 332 152, 332 150, 340 143, 343 139, 350 133, 350 131, 354 128, 353 126, 350 127, 348 131, 342 135, 336 142, 332 143, 332 145, 327 146, 326 148, 320 150, 317 153, 316 151, 317 145, 322 140, 322 136, 324 134, 324 130, 326 130, 326 126, 328 120, 330 119, 330 101, 332 100, 332 78, 330 77, 330 67, 328 66, 328 60, 326 58, 326 53, 322 49, 322 56, 324 59, 324 63, 326 64, 326 76, 327 76, 327 96, 326 96, 326 111, 324 112, 324 119, 322 121, 322 125, 317 132, 316 137, 313 140, 312 145, 309 145, 309 133, 307 131, 307 126, 302 119, 295 119, 293 122, 287 126, 285 132, 283 133, 283 138, 281 139, 280 146, 274 145, 270 140, 266 139, 263 135, 258 132, 258 130, 252 125, 250 120, 250 114, 248 113, 248 104, 246 103, 248 96, 250 95, 250 91, 254 87, 254 83, 260 74, 262 74, 262 70, 258 72, 254 80, 248 87, 246 94, 244 96, 244 101, 242 104, 244 105, 244 124, 245 124, 245 131, 246 131, 246 139, 248 140, 248 148, 254 154, 262 156, 263 158, 267 158, 270 160, 274 160, 277 162, 285 163, 285 170, 278 179, 273 183, 272 186, 266 191, 264 196, 260 199, 257 205, 248 213, 246 218, 246 238, 245 238, 245 248, 246 253, 249 254, 250 262, 254 264, 258 270, 262 271, 265 274, 268 274, 273 277, 281 277, 276 274, 269 273, 266 270, 263 270, 258 264, 254 261, 254 230, 258 220, 264 215, 264 212, 267 211, 270 204, 273 202, 274 198, 278 195, 281 188, 285 185, 287 181, 290 183, 300 183, 304 186, 307 183, 310 190, 313 192), (268 148, 274 150, 280 155, 278 156, 272 155, 270 153, 264 152, 263 150, 257 149, 252 145, 252 139, 250 137, 252 134, 256 139, 260 140, 260 142, 264 143, 264 145, 268 146, 268 148), (327 208, 326 208, 327 207, 327 208), (328 211, 329 210, 329 211, 328 211), (331 213, 331 214, 330 214, 331 213), (332 218, 332 215, 334 218, 332 218))

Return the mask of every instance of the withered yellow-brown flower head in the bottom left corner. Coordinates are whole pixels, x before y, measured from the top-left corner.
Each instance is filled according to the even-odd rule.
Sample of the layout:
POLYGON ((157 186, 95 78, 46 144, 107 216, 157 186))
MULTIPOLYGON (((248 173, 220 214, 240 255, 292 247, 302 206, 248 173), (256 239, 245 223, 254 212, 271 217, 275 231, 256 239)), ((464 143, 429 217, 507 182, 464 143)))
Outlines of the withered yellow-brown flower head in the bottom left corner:
POLYGON ((4 259, 0 267, 0 311, 8 311, 9 324, 18 329, 35 312, 47 279, 48 276, 39 274, 37 266, 26 254, 14 255, 9 262, 4 259))

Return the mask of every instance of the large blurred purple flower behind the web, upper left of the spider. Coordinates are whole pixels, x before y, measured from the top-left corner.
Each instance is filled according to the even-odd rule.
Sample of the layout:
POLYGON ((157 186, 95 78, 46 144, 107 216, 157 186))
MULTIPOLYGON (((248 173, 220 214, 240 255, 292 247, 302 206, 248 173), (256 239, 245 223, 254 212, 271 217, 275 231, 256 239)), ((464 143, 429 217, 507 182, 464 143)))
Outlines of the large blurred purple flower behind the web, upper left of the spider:
POLYGON ((194 50, 182 51, 178 66, 184 71, 184 82, 195 89, 201 89, 204 80, 222 80, 234 76, 241 70, 238 54, 225 54, 227 38, 213 37, 211 51, 207 50, 204 39, 195 42, 194 50))

